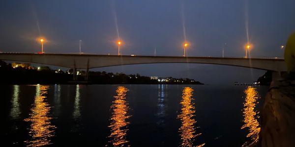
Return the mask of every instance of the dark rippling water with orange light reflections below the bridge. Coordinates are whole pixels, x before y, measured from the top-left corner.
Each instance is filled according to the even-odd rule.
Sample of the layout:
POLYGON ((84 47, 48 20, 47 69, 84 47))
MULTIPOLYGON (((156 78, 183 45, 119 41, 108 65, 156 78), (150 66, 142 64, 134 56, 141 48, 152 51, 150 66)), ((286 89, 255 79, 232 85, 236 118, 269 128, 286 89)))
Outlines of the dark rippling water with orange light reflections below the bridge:
POLYGON ((2 145, 31 147, 241 147, 258 139, 267 92, 264 86, 208 85, 0 89, 2 145))

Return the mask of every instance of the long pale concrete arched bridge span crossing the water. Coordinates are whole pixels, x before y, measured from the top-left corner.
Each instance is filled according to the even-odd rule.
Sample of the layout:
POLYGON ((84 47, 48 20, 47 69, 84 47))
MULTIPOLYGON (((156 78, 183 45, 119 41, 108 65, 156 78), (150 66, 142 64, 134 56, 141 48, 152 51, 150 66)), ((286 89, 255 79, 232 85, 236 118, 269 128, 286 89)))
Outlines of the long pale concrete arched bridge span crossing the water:
POLYGON ((0 59, 16 62, 39 63, 72 69, 91 69, 99 67, 151 63, 201 63, 238 66, 274 72, 287 71, 284 59, 264 58, 0 53, 0 59))

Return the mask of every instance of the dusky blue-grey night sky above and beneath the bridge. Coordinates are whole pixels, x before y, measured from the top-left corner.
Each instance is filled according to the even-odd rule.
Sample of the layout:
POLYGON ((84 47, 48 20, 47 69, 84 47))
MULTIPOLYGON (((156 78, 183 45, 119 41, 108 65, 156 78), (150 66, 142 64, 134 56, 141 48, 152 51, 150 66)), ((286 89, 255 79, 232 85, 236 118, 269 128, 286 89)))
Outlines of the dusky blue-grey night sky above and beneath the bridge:
MULTIPOLYGON (((0 51, 181 56, 283 57, 295 31, 295 0, 1 0, 0 51), (225 45, 226 43, 226 45, 225 45)), ((188 77, 207 84, 252 82, 265 73, 205 64, 148 64, 93 69, 188 77)))

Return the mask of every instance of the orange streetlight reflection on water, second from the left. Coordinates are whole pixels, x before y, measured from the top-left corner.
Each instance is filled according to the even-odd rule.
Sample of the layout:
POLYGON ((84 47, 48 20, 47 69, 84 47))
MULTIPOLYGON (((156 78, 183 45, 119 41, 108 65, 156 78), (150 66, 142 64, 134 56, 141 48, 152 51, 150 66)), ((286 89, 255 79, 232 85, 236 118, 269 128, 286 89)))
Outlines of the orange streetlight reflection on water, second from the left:
MULTIPOLYGON (((116 92, 117 96, 115 96, 115 100, 111 106, 112 117, 111 117, 111 135, 109 136, 112 138, 110 143, 113 144, 115 147, 122 147, 127 145, 129 142, 126 139, 127 134, 127 125, 130 123, 127 121, 128 118, 131 116, 127 113, 129 110, 128 103, 126 102, 126 92, 128 89, 124 86, 118 86, 116 92)), ((127 145, 128 146, 128 145, 127 145)))

